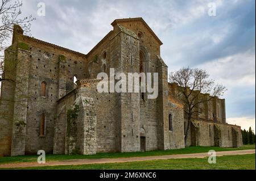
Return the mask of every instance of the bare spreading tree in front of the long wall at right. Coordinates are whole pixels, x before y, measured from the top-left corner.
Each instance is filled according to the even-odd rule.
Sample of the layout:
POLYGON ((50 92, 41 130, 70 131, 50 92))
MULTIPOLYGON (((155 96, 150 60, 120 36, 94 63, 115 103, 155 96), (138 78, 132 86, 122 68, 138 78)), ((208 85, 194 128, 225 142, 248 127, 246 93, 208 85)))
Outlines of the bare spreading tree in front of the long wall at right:
POLYGON ((184 105, 184 114, 187 117, 186 141, 192 116, 202 111, 200 104, 209 102, 214 97, 222 96, 226 87, 209 79, 209 74, 203 69, 183 68, 177 70, 169 74, 169 81, 177 83, 178 90, 175 96, 184 105), (209 96, 202 96, 203 94, 209 94, 209 96))

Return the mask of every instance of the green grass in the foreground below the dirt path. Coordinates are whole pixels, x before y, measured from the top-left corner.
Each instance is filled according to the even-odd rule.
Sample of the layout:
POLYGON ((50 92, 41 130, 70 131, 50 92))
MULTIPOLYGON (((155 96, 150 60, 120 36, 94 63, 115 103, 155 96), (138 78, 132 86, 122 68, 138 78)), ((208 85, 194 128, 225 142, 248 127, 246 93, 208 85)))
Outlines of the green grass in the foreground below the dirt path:
MULTIPOLYGON (((20 169, 20 168, 19 168, 20 169)), ((44 166, 44 167, 30 167, 21 169, 46 169, 46 170, 88 170, 88 169, 100 169, 100 170, 255 170, 255 154, 246 155, 227 155, 216 158, 215 164, 209 164, 208 158, 183 158, 183 159, 159 159, 155 161, 141 161, 141 162, 127 162, 127 163, 104 163, 104 164, 92 164, 92 165, 71 165, 71 166, 44 166)))

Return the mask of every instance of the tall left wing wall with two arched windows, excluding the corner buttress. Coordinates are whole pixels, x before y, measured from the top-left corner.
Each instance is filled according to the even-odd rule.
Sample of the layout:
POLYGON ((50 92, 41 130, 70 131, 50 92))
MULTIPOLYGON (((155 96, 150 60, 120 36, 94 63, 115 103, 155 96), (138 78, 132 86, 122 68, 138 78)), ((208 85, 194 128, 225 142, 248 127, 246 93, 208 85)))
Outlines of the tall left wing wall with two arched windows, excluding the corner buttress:
POLYGON ((53 150, 53 120, 56 101, 73 90, 73 77, 84 78, 84 55, 24 36, 30 52, 29 95, 27 110, 26 154, 43 149, 53 150), (41 83, 46 82, 46 96, 40 95, 41 83), (39 135, 40 116, 46 115, 46 133, 39 135))

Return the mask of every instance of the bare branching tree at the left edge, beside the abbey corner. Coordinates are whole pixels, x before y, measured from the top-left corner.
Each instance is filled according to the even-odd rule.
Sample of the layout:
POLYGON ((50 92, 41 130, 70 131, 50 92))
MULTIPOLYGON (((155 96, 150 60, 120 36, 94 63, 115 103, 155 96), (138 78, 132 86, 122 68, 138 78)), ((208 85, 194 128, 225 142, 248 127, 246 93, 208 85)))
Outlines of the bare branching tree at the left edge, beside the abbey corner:
MULTIPOLYGON (((1 1, 1 0, 0 0, 1 1)), ((13 25, 18 24, 24 30, 26 35, 30 35, 30 27, 32 20, 32 15, 22 16, 22 1, 20 0, 2 0, 0 6, 0 83, 5 80, 4 68, 3 68, 3 58, 4 50, 10 44, 11 36, 13 33, 13 25)), ((6 80, 14 81, 14 80, 6 80)))

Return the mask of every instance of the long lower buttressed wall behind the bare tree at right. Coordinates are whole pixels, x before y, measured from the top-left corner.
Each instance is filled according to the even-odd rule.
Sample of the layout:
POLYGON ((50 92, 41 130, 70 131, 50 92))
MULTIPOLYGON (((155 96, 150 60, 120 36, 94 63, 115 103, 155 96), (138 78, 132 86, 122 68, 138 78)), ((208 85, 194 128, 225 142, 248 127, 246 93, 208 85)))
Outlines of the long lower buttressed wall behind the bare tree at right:
MULTIPOLYGON (((169 89, 172 96, 179 94, 176 83, 169 83, 169 89)), ((225 99, 209 97, 209 94, 199 97, 202 96, 207 96, 209 101, 200 103, 200 111, 192 116, 185 146, 242 146, 241 127, 226 123, 225 99)), ((186 125, 187 117, 184 116, 184 127, 186 125)))

